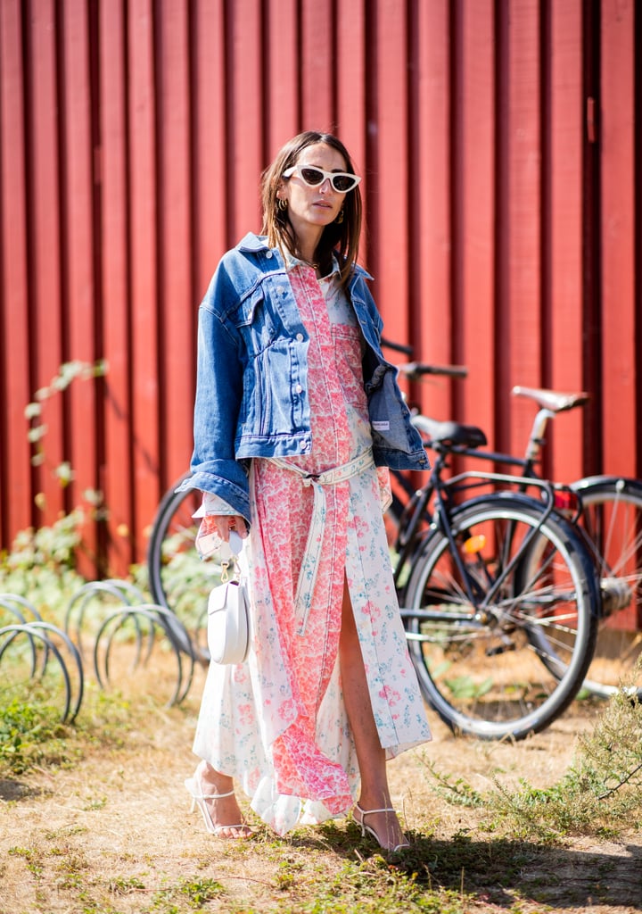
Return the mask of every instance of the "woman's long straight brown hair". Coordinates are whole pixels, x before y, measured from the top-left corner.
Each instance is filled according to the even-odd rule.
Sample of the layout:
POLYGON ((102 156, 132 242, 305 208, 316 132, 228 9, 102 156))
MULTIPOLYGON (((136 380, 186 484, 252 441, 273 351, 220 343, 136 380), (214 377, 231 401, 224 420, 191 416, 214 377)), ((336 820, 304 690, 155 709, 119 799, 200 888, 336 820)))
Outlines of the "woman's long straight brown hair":
MULTIPOLYGON (((318 133, 306 131, 293 137, 280 149, 279 154, 271 165, 263 172, 261 182, 261 197, 263 203, 263 227, 261 233, 268 236, 268 244, 272 248, 286 248, 295 254, 295 240, 289 222, 288 210, 279 209, 277 206, 277 191, 283 180, 283 172, 299 161, 301 152, 315 143, 325 143, 341 153, 345 160, 345 170, 354 174, 353 161, 341 140, 332 133, 318 133)), ((315 260, 321 265, 321 270, 329 269, 332 253, 336 253, 341 269, 341 282, 345 285, 353 271, 354 264, 359 255, 359 239, 361 237, 362 200, 359 186, 348 191, 343 201, 342 222, 331 222, 323 229, 321 239, 315 251, 315 260)))

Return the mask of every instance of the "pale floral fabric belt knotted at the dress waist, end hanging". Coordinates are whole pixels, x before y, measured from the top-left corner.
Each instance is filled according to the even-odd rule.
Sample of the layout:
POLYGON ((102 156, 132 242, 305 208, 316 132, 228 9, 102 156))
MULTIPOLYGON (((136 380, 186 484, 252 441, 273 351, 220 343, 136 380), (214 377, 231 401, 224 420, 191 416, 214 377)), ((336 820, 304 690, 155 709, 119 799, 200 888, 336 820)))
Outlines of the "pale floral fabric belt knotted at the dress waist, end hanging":
POLYGON ((344 483, 346 480, 352 479, 353 476, 368 470, 371 466, 374 466, 374 457, 372 451, 366 451, 353 460, 342 463, 341 466, 332 467, 332 470, 326 470, 324 473, 307 473, 295 463, 282 460, 280 457, 270 457, 268 459, 270 463, 274 463, 282 470, 291 470, 293 473, 297 473, 301 477, 303 485, 311 485, 314 492, 310 530, 305 544, 303 561, 301 562, 297 592, 294 596, 295 612, 299 619, 297 633, 302 635, 305 634, 306 625, 308 624, 308 615, 310 614, 312 595, 319 569, 321 547, 323 546, 323 525, 327 513, 324 488, 326 485, 344 483))

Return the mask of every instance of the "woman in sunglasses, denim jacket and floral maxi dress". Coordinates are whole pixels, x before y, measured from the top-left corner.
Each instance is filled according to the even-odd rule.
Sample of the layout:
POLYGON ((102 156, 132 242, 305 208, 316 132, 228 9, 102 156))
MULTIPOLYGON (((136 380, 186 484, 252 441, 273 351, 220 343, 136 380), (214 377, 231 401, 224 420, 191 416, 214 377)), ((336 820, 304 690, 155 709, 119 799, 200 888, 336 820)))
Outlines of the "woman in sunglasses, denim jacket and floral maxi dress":
POLYGON ((377 469, 427 460, 356 263, 360 180, 332 134, 286 143, 263 234, 226 253, 199 311, 184 485, 204 492, 199 537, 245 539, 252 602, 247 663, 210 664, 185 781, 220 837, 250 834, 237 779, 279 834, 353 809, 362 834, 406 846, 385 762, 430 739, 377 469))

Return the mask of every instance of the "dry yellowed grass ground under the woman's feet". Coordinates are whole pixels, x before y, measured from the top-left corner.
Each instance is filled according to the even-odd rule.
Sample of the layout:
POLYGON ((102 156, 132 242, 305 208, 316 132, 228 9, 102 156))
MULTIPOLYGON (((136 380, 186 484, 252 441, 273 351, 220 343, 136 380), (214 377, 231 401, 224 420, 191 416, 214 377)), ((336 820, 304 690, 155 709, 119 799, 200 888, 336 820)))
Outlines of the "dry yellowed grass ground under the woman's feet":
POLYGON ((430 760, 480 793, 498 778, 547 787, 568 768, 595 707, 576 703, 553 727, 514 745, 456 739, 432 716, 434 741, 390 764, 414 842, 391 868, 346 821, 284 840, 260 825, 244 842, 205 834, 200 817, 188 815, 183 785, 195 766, 204 671, 195 671, 187 700, 174 708, 154 699, 171 691, 171 658, 154 656, 134 675, 115 662, 112 673, 121 693, 101 704, 91 686, 81 733, 69 738, 79 761, 0 771, 0 914, 642 909, 642 840, 633 827, 563 847, 515 840, 492 811, 448 802, 426 766, 430 760))

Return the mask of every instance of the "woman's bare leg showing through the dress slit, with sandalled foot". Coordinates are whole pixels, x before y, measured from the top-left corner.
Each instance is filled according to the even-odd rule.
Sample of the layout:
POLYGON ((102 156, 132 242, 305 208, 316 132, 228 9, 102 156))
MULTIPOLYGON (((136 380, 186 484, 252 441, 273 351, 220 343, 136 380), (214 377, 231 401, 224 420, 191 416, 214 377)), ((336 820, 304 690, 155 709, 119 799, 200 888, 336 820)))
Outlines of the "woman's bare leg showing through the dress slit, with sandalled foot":
MULTIPOLYGON (((374 722, 373 706, 363 668, 361 645, 354 623, 347 583, 343 589, 342 629, 339 640, 343 700, 353 731, 354 746, 361 771, 359 805, 363 810, 392 807, 385 750, 374 722)), ((357 813, 358 814, 358 813, 357 813)), ((376 813, 365 820, 379 837, 379 843, 392 849, 407 843, 395 813, 376 813)))

